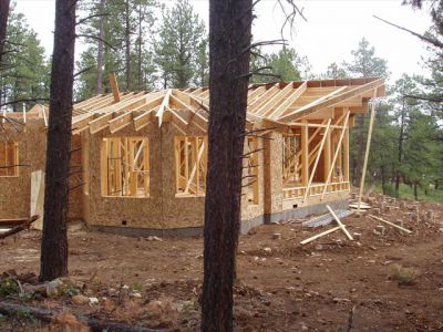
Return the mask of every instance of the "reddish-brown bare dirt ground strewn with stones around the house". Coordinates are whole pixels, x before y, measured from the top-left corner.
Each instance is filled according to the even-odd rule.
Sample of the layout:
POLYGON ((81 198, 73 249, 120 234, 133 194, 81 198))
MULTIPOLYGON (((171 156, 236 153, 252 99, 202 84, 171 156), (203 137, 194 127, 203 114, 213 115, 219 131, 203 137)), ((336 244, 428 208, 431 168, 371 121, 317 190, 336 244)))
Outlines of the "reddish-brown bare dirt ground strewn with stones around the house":
MULTIPOLYGON (((370 204, 375 207, 371 214, 403 220, 412 234, 387 225, 378 235, 381 222, 352 215, 343 222, 357 234, 354 241, 338 230, 301 246, 302 239, 336 225, 311 229, 300 220, 241 236, 236 330, 443 331, 443 206, 421 203, 416 211, 412 201, 381 197, 370 204), (394 274, 402 268, 416 276, 394 274)), ((38 274, 39 243, 37 231, 0 242, 0 271, 13 269, 18 279, 28 273, 23 282, 35 282, 29 272, 38 274)), ((75 230, 69 246, 66 282, 99 303, 73 304, 70 291, 8 301, 152 329, 198 331, 202 238, 148 240, 75 230)), ((48 328, 20 318, 3 318, 0 328, 35 330, 32 324, 48 328)))

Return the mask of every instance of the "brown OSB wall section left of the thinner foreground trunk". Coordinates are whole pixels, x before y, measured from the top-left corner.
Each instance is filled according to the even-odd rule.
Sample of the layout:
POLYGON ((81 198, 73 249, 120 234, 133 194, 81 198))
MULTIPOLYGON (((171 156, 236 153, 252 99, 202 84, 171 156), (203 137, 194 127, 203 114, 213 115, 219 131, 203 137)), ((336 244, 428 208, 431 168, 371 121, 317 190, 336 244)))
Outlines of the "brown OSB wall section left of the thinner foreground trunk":
POLYGON ((0 139, 19 143, 19 168, 17 177, 0 177, 0 219, 24 218, 30 214, 31 173, 44 169, 45 131, 43 121, 28 120, 16 131, 4 125, 0 139))

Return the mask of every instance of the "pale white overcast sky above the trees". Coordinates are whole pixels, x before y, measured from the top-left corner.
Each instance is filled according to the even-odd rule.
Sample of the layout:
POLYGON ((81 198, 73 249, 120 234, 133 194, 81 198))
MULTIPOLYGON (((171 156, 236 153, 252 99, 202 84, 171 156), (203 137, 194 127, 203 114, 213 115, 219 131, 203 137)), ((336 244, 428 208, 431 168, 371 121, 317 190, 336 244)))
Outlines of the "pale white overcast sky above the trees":
MULTIPOLYGON (((285 1, 285 0, 284 0, 285 1)), ((17 0, 18 11, 25 14, 29 24, 39 33, 48 53, 52 52, 54 0, 17 0)), ((162 1, 168 6, 173 0, 162 1)), ((208 0, 190 0, 200 18, 208 22, 208 0)), ((284 14, 276 0, 261 0, 257 7, 258 19, 254 23, 256 41, 280 38, 284 14)), ((372 15, 424 32, 431 20, 426 12, 401 6, 402 0, 305 0, 297 1, 303 8, 307 21, 296 20, 291 35, 285 38, 300 55, 306 55, 315 73, 326 71, 331 62, 350 59, 350 51, 364 37, 375 46, 377 55, 388 60, 392 79, 402 73, 425 73, 421 58, 424 45, 416 38, 387 25, 372 15)), ((78 46, 81 50, 81 46, 78 46)))

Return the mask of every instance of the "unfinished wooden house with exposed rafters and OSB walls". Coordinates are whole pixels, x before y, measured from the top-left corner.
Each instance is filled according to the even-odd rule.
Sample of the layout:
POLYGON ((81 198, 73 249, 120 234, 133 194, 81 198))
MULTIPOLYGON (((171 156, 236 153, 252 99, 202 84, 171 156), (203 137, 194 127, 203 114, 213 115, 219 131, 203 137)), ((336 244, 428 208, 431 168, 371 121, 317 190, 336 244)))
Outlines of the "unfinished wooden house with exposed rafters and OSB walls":
MULTIPOLYGON (((112 94, 73 110, 71 164, 79 172, 70 217, 133 235, 199 234, 209 90, 121 93, 115 81, 112 86, 112 94)), ((356 114, 380 96, 380 77, 251 85, 246 129, 259 135, 245 139, 243 230, 346 205, 349 131, 356 114)), ((31 174, 44 169, 48 110, 13 116, 25 122, 23 129, 6 124, 6 135, 18 145, 16 163, 28 166, 16 177, 0 176, 8 188, 0 194, 0 219, 29 215, 31 174)))

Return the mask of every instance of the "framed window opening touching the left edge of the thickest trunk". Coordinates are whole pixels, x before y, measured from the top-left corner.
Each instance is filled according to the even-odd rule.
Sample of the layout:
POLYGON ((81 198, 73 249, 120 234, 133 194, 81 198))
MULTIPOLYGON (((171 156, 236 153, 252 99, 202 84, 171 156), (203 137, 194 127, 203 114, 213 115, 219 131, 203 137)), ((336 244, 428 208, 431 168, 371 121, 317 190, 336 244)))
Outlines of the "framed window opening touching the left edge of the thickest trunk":
POLYGON ((175 137, 176 196, 205 196, 207 137, 175 137))

